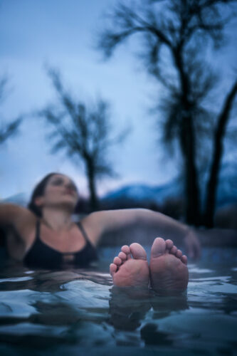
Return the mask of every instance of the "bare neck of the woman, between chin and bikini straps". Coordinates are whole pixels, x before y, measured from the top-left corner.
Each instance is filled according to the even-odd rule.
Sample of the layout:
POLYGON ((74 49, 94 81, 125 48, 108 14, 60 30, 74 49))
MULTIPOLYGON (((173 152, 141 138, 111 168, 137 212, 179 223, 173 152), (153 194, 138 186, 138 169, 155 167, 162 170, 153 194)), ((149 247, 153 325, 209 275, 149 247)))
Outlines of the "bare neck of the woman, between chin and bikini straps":
POLYGON ((71 212, 60 209, 43 209, 42 221, 55 231, 69 230, 73 224, 71 212))

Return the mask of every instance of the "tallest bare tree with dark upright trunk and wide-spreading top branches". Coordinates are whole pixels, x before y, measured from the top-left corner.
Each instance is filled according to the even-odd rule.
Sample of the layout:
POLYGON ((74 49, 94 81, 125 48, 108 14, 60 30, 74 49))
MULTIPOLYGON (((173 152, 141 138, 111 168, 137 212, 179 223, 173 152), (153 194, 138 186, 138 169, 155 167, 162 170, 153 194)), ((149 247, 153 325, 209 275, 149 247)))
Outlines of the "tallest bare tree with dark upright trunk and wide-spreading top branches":
MULTIPOLYGON (((126 38, 134 34, 141 36, 146 69, 164 87, 165 95, 159 105, 164 117, 163 138, 167 144, 176 139, 179 142, 184 161, 186 221, 195 225, 201 221, 198 142, 206 122, 213 122, 204 104, 217 79, 205 63, 204 50, 209 42, 215 48, 223 44, 223 30, 230 19, 227 6, 234 2, 236 0, 118 2, 98 41, 98 47, 108 58, 126 38)), ((234 95, 230 107, 233 99, 234 95)), ((220 137, 222 141, 223 135, 220 137)))

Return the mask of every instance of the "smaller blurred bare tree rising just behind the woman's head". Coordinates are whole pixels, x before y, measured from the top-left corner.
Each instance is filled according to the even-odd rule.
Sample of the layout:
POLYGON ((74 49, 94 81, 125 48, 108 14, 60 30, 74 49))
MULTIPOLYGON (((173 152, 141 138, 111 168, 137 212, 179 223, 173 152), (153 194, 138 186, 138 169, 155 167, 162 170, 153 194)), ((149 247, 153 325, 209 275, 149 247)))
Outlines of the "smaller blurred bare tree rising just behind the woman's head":
POLYGON ((90 191, 90 207, 98 209, 96 182, 105 176, 115 176, 108 160, 110 147, 122 142, 128 131, 112 135, 112 122, 109 105, 99 99, 95 105, 88 106, 82 100, 74 100, 63 88, 57 70, 48 70, 59 98, 59 105, 48 106, 40 112, 51 124, 49 135, 52 152, 64 150, 68 157, 83 162, 90 191))

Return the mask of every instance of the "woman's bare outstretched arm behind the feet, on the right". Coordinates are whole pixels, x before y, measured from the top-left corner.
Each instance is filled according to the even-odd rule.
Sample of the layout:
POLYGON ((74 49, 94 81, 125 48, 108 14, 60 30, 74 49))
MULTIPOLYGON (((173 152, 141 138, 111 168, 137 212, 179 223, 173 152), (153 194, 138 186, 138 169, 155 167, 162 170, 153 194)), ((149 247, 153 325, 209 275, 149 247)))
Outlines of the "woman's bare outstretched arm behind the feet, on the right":
POLYGON ((95 244, 104 234, 141 231, 142 234, 154 235, 154 238, 175 239, 178 243, 184 243, 190 257, 200 256, 199 239, 189 226, 149 209, 97 211, 83 219, 83 225, 95 244))

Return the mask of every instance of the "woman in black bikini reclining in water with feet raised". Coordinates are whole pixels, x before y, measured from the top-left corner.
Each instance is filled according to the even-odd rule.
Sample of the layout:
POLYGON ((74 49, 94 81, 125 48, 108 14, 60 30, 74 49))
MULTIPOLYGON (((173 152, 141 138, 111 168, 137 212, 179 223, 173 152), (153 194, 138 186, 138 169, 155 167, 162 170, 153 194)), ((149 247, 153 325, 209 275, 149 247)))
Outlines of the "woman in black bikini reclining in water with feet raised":
MULTIPOLYGON (((0 205, 0 224, 7 226, 9 256, 30 268, 86 267, 97 258, 96 246, 104 234, 153 226, 157 234, 183 240, 189 254, 199 255, 199 241, 184 224, 148 209, 97 211, 80 223, 72 220, 78 191, 63 174, 48 174, 34 189, 28 209, 0 205)), ((110 265, 115 286, 150 286, 156 291, 185 290, 187 258, 172 240, 154 240, 148 266, 144 248, 122 246, 110 265)))

